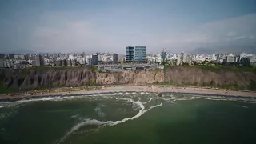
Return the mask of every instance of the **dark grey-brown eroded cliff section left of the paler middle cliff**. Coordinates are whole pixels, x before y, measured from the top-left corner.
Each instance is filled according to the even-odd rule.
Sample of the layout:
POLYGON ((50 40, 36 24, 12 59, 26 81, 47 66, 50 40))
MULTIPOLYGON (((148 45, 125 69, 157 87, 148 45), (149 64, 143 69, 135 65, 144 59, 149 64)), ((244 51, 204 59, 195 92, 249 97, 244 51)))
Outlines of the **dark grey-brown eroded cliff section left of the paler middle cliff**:
POLYGON ((12 89, 86 86, 96 81, 96 74, 84 68, 45 70, 0 70, 0 82, 12 89))

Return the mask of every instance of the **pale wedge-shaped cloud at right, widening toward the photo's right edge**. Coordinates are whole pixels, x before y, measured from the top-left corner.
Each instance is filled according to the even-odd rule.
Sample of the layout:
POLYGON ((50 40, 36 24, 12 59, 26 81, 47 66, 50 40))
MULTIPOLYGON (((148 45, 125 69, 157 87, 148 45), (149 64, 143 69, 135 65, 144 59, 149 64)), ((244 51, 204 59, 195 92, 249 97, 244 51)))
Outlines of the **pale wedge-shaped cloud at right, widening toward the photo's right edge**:
POLYGON ((166 45, 190 50, 200 46, 254 45, 256 14, 230 18, 190 27, 185 33, 169 35, 163 40, 166 45))

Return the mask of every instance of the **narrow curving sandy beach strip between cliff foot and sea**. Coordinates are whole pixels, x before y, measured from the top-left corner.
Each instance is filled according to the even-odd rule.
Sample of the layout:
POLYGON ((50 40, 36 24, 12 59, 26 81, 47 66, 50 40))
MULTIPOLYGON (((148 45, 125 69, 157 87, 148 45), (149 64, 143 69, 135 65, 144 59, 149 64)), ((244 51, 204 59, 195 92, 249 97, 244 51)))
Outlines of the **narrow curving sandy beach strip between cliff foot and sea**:
MULTIPOLYGON (((92 86, 93 87, 93 86, 92 86)), ((99 86, 94 86, 94 88, 99 86)), ((151 93, 151 94, 188 94, 202 97, 218 97, 218 98, 254 98, 256 99, 256 91, 242 90, 222 90, 222 89, 207 89, 202 87, 179 87, 179 86, 100 86, 101 89, 95 90, 77 90, 77 91, 60 91, 32 94, 1 94, 0 102, 17 102, 20 100, 30 100, 38 98, 57 98, 69 96, 82 96, 93 94, 118 94, 118 93, 151 93)), ((70 88, 72 90, 72 88, 70 88)))

